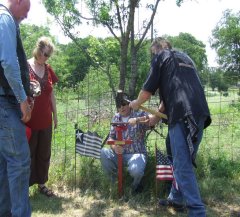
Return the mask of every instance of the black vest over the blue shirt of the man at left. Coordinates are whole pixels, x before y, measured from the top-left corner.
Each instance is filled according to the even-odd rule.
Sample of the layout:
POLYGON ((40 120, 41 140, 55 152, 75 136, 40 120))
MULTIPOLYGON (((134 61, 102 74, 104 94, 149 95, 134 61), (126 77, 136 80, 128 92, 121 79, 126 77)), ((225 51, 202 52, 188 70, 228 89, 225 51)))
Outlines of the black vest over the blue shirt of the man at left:
MULTIPOLYGON (((8 9, 4 5, 0 4, 0 7, 4 7, 8 11, 8 9)), ((30 96, 30 79, 29 79, 29 69, 28 69, 27 57, 26 57, 26 54, 23 49, 22 40, 20 37, 20 30, 19 30, 19 26, 17 24, 16 24, 16 31, 17 31, 17 57, 18 57, 18 63, 20 66, 20 71, 21 71, 22 84, 23 84, 24 90, 26 92, 26 95, 30 96)), ((9 86, 8 81, 7 81, 6 77, 4 76, 3 72, 4 72, 4 70, 3 70, 1 62, 0 62, 0 86, 3 87, 6 95, 8 95, 8 92, 9 92, 9 90, 11 90, 11 87, 9 86)))

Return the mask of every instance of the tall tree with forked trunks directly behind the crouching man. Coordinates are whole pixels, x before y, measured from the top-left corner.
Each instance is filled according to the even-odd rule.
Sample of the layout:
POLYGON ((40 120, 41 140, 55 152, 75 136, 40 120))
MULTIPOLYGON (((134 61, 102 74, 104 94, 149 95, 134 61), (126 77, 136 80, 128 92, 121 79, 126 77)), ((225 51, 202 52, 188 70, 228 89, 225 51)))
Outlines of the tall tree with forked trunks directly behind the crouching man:
MULTIPOLYGON (((183 0, 177 0, 177 5, 180 6, 183 0)), ((47 11, 52 14, 56 21, 60 24, 65 34, 75 40, 78 37, 76 31, 77 26, 83 20, 93 21, 95 25, 106 27, 112 36, 119 42, 120 45, 120 81, 118 88, 125 89, 127 77, 127 63, 129 53, 129 43, 131 42, 131 74, 129 89, 134 92, 136 81, 138 78, 137 72, 137 52, 144 41, 146 34, 152 25, 160 0, 149 0, 144 3, 146 10, 150 10, 151 14, 143 22, 143 26, 139 28, 141 31, 136 31, 134 25, 136 9, 140 6, 140 0, 85 0, 90 9, 91 17, 87 17, 80 13, 78 1, 69 0, 44 0, 44 5, 47 11), (137 37, 138 36, 138 37, 137 37), (140 37, 139 37, 140 36, 140 37), (135 39, 138 42, 135 44, 135 39)), ((89 16, 89 15, 88 15, 89 16)), ((87 54, 88 55, 88 54, 87 54)), ((94 62, 95 60, 93 60, 94 62)), ((95 61, 96 62, 96 61, 95 61)), ((108 67, 103 67, 107 71, 108 67)))

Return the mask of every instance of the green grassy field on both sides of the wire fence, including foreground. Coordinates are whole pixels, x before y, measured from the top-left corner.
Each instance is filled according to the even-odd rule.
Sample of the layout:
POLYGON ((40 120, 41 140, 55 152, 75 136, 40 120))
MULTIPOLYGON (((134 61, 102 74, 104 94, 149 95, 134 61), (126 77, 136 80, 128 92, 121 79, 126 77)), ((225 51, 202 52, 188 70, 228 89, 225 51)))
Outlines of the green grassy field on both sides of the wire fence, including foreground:
MULTIPOLYGON (((36 187, 30 189, 33 217, 146 217, 186 216, 171 209, 159 209, 157 198, 167 196, 167 183, 155 183, 154 146, 165 148, 166 126, 156 128, 147 139, 149 160, 143 178, 144 191, 132 195, 131 180, 124 176, 124 196, 118 198, 117 186, 110 186, 99 160, 75 155, 74 125, 96 131, 105 138, 109 120, 115 112, 110 102, 80 99, 68 93, 58 95, 59 127, 53 136, 48 185, 56 193, 46 198, 36 187), (106 106, 106 104, 108 106, 106 106)), ((240 103, 239 96, 217 92, 207 96, 212 125, 204 132, 196 169, 207 216, 240 217, 240 103)))

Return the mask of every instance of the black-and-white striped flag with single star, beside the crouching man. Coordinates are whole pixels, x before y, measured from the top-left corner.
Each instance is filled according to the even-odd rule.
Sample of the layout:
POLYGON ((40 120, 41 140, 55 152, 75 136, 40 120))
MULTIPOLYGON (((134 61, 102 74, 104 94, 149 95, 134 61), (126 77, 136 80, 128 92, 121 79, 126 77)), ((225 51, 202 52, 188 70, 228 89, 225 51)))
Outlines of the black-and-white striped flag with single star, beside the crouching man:
POLYGON ((83 133, 80 129, 76 129, 76 153, 99 159, 101 146, 102 139, 97 133, 89 131, 83 133))

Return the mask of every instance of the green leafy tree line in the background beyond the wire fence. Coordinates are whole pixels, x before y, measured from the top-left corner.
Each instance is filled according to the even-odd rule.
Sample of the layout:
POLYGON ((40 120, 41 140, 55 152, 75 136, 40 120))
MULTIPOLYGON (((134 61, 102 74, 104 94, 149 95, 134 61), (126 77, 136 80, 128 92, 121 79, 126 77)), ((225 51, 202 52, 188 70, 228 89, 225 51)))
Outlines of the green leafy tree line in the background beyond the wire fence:
MULTIPOLYGON (((59 22, 63 27, 64 33, 72 38, 72 42, 60 44, 55 40, 54 36, 50 34, 48 27, 23 24, 21 34, 27 56, 31 56, 32 49, 40 36, 49 36, 56 45, 56 52, 50 59, 50 63, 60 78, 59 87, 76 88, 84 82, 86 75, 90 76, 88 79, 91 78, 91 76, 97 75, 102 83, 101 88, 113 92, 116 91, 117 88, 122 88, 134 97, 135 93, 141 88, 149 70, 151 60, 149 47, 152 39, 139 38, 136 37, 136 35, 132 36, 128 34, 130 43, 127 43, 126 51, 122 51, 125 49, 123 48, 123 44, 125 44, 125 42, 123 42, 125 40, 123 39, 123 35, 126 37, 126 30, 119 30, 120 24, 117 24, 118 19, 113 20, 113 18, 109 17, 114 5, 106 6, 105 4, 105 7, 107 7, 105 8, 103 4, 105 1, 96 1, 98 2, 98 8, 94 8, 96 5, 89 5, 92 10, 97 10, 94 13, 92 12, 94 15, 92 20, 94 22, 98 21, 98 24, 105 25, 107 28, 119 30, 121 32, 120 36, 117 37, 117 34, 112 32, 111 37, 104 39, 92 36, 79 38, 71 32, 76 25, 80 25, 80 20, 83 19, 76 8, 74 9, 75 5, 63 9, 63 7, 59 5, 56 7, 56 4, 60 4, 57 1, 45 2, 48 11, 54 14, 56 19, 61 20, 61 22, 59 22), (106 13, 105 15, 104 12, 106 13), (75 13, 72 20, 61 17, 64 14, 69 14, 68 16, 70 16, 72 13, 75 13), (75 19, 79 19, 79 22, 75 19), (108 24, 108 22, 110 22, 111 25, 108 24)), ((61 4, 67 4, 67 2, 68 1, 61 1, 61 4)), ((138 1, 137 6, 134 6, 140 7, 139 2, 140 1, 138 1)), ((118 5, 116 7, 120 6, 118 5)), ((129 7, 130 6, 122 5, 120 8, 121 10, 124 8, 127 10, 129 7)), ((147 7, 151 10, 157 9, 157 5, 147 5, 147 7)), ((120 16, 120 14, 118 15, 120 16)), ((130 15, 126 14, 124 19, 130 19, 128 16, 130 15)), ((123 19, 123 17, 120 16, 118 18, 123 19)), ((126 20, 124 22, 126 22, 126 20)), ((148 23, 151 24, 151 21, 148 23)), ((130 32, 134 32, 134 29, 131 29, 130 32)), ((239 86, 240 12, 234 14, 226 10, 212 31, 210 43, 211 47, 217 51, 219 67, 208 67, 205 44, 191 34, 180 33, 178 36, 164 35, 164 37, 172 43, 174 48, 186 52, 194 60, 203 85, 208 85, 212 90, 217 89, 223 92, 226 92, 232 85, 239 86)), ((97 88, 95 89, 97 91, 97 88)))

